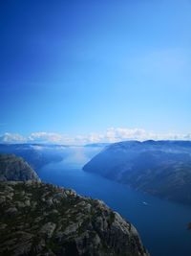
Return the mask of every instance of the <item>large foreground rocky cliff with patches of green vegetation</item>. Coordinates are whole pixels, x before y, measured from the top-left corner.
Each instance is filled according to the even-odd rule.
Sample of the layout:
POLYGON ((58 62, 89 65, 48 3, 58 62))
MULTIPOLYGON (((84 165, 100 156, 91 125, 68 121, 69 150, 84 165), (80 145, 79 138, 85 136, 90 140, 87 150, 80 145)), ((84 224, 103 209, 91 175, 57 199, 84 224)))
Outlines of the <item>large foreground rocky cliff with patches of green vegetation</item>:
POLYGON ((41 182, 0 182, 0 255, 147 256, 102 201, 41 182))

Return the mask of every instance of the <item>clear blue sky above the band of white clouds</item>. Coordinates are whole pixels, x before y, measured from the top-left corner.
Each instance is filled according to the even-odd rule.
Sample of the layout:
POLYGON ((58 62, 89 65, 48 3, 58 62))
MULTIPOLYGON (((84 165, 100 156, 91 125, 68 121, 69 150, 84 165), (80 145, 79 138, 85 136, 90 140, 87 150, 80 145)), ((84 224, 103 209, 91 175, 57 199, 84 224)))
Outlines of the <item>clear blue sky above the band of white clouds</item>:
POLYGON ((0 135, 190 133, 190 13, 185 0, 1 1, 0 135))

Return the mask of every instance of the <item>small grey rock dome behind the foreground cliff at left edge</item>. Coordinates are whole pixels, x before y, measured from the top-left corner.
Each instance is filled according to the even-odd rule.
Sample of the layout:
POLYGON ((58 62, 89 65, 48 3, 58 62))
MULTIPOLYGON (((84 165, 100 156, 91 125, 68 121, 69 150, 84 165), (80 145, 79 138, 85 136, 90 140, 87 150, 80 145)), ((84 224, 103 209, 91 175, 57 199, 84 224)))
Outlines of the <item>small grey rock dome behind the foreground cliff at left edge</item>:
POLYGON ((21 157, 14 154, 0 154, 0 181, 39 180, 38 175, 21 157))

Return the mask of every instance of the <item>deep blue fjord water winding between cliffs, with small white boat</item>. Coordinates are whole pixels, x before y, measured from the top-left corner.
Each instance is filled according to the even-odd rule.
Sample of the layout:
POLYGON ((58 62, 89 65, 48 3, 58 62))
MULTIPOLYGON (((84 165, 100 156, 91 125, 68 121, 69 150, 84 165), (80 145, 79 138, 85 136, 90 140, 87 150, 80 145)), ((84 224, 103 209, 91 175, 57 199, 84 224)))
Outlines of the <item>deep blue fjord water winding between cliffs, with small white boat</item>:
POLYGON ((191 207, 155 198, 84 172, 81 168, 98 150, 74 148, 66 159, 44 166, 38 174, 43 181, 73 188, 78 194, 104 200, 138 229, 151 256, 190 256, 191 207))

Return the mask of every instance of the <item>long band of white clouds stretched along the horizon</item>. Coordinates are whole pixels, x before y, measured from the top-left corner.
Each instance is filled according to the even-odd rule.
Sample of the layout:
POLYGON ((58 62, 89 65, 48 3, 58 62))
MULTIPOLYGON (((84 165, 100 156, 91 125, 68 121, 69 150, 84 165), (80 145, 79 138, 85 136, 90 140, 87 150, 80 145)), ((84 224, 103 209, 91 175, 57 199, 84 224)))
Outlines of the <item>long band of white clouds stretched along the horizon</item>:
POLYGON ((114 143, 124 140, 191 140, 191 133, 163 133, 147 131, 143 128, 108 128, 102 133, 90 133, 76 135, 74 137, 55 132, 32 132, 29 136, 6 132, 0 136, 0 143, 42 143, 42 144, 65 144, 84 145, 91 143, 114 143))

